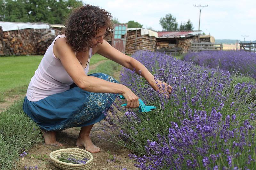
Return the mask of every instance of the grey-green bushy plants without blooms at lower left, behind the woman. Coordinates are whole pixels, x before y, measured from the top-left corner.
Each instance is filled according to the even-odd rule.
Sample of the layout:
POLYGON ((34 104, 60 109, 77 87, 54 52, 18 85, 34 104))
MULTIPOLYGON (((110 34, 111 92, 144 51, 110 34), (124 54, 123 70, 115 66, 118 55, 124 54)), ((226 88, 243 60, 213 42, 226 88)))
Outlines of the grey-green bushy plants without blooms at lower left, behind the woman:
POLYGON ((23 100, 0 113, 0 169, 12 169, 19 153, 43 141, 40 128, 22 110, 23 100))

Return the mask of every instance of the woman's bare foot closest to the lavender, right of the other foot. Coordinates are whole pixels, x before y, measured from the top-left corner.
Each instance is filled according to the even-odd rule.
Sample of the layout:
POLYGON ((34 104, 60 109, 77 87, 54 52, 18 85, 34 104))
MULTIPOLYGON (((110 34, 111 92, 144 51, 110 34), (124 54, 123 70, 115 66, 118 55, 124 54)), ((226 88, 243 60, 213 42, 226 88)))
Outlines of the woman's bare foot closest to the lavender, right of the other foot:
POLYGON ((88 135, 84 135, 83 137, 79 136, 77 138, 76 145, 80 147, 84 146, 86 151, 91 153, 100 152, 100 148, 92 143, 91 138, 88 135))

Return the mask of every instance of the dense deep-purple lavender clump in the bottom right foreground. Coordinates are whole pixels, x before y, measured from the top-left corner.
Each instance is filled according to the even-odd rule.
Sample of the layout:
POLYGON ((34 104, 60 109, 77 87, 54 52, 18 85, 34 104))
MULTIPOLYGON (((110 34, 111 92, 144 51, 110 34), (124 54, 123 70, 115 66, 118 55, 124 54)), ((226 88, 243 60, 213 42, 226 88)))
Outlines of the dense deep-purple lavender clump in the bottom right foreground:
POLYGON ((167 137, 148 140, 147 156, 129 156, 141 169, 255 169, 255 128, 248 120, 238 127, 236 118, 227 115, 223 121, 215 109, 210 116, 197 111, 180 127, 171 122, 167 137))

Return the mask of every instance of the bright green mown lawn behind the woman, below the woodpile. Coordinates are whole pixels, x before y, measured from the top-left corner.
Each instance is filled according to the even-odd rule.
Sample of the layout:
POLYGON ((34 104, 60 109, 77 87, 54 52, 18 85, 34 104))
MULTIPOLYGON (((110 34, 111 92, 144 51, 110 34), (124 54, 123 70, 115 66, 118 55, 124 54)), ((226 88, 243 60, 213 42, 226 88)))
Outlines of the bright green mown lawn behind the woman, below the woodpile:
MULTIPOLYGON (((43 56, 9 56, 0 57, 0 102, 5 97, 25 94, 43 56)), ((100 54, 94 54, 90 65, 101 60, 108 60, 100 54)))

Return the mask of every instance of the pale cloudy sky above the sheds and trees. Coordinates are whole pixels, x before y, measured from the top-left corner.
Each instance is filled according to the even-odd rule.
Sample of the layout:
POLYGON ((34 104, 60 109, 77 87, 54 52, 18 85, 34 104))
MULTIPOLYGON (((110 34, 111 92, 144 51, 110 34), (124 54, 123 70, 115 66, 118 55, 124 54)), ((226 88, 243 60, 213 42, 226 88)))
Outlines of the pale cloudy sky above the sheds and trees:
POLYGON ((178 24, 193 23, 198 30, 199 9, 193 5, 208 5, 201 11, 200 30, 215 39, 256 40, 256 0, 83 0, 107 10, 121 23, 134 20, 143 28, 162 31, 159 19, 171 13, 178 24))

